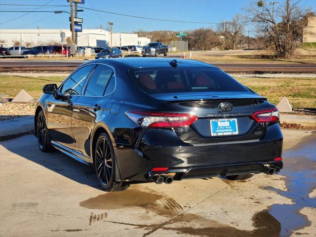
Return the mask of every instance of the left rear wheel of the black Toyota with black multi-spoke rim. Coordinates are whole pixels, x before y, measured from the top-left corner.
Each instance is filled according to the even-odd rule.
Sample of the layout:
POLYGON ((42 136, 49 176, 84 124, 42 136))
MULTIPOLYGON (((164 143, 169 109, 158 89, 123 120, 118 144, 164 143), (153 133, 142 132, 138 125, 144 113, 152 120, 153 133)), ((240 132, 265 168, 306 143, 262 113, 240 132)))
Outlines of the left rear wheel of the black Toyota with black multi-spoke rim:
POLYGON ((101 133, 95 145, 94 167, 100 186, 104 191, 123 191, 129 187, 128 182, 115 181, 116 162, 114 149, 108 134, 101 133))

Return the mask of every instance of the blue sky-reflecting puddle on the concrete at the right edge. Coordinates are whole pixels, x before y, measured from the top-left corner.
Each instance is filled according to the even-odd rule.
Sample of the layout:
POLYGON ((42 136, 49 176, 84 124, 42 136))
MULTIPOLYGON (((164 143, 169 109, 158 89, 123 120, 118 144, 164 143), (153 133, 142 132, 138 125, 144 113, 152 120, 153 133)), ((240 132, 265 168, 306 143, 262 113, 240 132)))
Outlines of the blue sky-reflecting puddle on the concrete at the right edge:
POLYGON ((292 199, 294 204, 273 204, 269 212, 281 224, 280 236, 287 237, 311 224, 299 210, 306 206, 316 208, 316 198, 308 197, 316 187, 316 135, 284 152, 283 162, 280 174, 286 177, 287 191, 268 189, 292 199))

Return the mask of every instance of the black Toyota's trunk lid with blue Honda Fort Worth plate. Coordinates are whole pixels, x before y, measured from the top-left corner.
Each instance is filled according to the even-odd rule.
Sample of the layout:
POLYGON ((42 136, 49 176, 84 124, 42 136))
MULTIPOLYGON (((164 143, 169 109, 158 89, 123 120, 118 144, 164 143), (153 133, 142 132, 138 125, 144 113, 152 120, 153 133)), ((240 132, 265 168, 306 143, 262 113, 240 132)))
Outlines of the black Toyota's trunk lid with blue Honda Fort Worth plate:
POLYGON ((260 139, 266 126, 250 115, 272 107, 265 97, 253 92, 160 93, 149 95, 148 102, 162 112, 196 115, 191 126, 174 128, 179 138, 190 144, 260 139), (232 109, 222 111, 221 103, 230 103, 232 109))

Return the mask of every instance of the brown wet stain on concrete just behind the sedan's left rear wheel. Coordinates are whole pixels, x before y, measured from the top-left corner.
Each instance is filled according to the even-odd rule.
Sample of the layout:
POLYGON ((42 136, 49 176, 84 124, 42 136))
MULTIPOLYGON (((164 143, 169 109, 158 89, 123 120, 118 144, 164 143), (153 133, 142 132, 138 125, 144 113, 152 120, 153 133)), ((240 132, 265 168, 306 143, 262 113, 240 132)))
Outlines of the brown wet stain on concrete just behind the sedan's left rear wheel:
POLYGON ((123 192, 101 194, 81 201, 80 206, 88 209, 113 210, 126 207, 142 207, 158 215, 172 216, 182 207, 163 192, 145 189, 141 186, 130 187, 123 192))

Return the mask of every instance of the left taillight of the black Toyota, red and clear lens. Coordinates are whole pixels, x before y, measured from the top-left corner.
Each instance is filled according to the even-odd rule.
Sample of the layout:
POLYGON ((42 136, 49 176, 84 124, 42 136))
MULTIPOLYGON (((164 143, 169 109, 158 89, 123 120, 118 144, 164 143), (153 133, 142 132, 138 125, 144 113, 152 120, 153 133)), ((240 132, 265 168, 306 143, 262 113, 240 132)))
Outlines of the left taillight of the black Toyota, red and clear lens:
POLYGON ((129 110, 125 115, 142 127, 182 127, 190 126, 197 116, 190 114, 160 113, 129 110))

